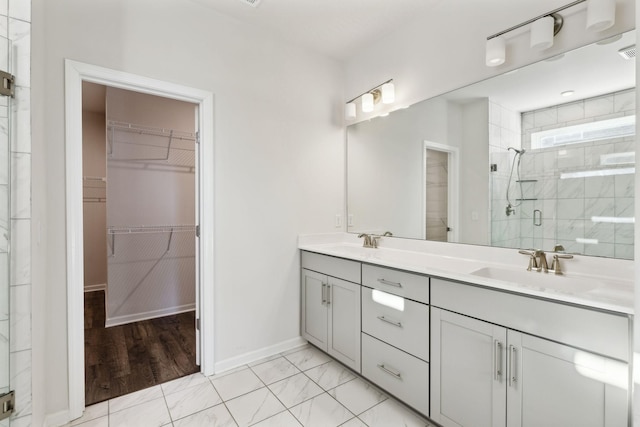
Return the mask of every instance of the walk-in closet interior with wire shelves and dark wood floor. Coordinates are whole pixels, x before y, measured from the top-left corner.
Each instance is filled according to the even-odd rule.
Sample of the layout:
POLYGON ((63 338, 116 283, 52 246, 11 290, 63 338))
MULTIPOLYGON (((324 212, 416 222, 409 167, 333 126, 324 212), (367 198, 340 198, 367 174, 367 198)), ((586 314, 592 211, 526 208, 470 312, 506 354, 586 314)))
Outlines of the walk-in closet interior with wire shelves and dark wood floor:
POLYGON ((87 405, 199 371, 196 108, 83 83, 87 405))

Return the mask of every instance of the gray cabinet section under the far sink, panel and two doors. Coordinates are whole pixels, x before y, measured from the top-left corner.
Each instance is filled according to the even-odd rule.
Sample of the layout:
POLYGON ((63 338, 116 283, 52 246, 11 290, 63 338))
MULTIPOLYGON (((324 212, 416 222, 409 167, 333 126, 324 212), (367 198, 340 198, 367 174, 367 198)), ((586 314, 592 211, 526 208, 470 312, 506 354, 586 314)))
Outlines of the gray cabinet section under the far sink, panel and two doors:
POLYGON ((360 263, 302 253, 301 334, 360 372, 360 263))

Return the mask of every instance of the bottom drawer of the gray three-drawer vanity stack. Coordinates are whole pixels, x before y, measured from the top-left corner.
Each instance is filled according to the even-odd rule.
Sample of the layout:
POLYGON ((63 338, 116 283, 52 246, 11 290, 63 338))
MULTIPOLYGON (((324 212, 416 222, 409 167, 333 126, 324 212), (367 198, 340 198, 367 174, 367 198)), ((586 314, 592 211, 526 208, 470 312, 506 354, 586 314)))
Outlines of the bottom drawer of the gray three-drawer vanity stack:
POLYGON ((429 415, 429 364, 362 334, 362 375, 429 415))

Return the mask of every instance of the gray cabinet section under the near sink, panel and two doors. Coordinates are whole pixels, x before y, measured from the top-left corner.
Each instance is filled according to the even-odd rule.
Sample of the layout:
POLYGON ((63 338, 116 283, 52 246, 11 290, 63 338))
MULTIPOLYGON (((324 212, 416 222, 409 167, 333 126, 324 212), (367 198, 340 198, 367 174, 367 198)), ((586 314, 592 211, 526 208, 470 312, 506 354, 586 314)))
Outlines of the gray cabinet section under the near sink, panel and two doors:
POLYGON ((432 304, 446 308, 431 310, 431 417, 443 426, 628 424, 628 364, 615 357, 628 340, 614 343, 599 329, 617 324, 628 333, 625 316, 438 279, 432 304), (487 319, 497 311, 505 316, 498 324, 487 319), (541 320, 563 312, 551 327, 541 320))

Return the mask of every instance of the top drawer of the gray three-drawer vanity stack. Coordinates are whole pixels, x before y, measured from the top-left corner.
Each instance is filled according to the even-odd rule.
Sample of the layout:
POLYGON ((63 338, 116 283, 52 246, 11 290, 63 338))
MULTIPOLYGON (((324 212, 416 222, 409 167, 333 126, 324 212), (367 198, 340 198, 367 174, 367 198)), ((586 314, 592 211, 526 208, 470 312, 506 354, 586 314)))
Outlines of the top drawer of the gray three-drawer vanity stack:
POLYGON ((426 276, 364 264, 362 284, 429 304, 429 278, 426 276))

